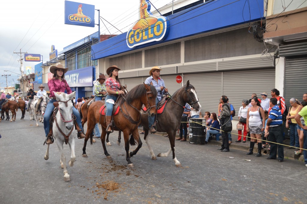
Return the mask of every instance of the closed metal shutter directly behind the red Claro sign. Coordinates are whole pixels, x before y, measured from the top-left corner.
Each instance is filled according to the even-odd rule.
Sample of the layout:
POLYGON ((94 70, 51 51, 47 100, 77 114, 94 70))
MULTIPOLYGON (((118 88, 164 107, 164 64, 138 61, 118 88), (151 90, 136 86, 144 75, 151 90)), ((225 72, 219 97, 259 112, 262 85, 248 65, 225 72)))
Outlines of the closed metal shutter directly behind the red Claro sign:
POLYGON ((221 79, 221 72, 184 75, 184 84, 190 80, 190 84, 195 87, 197 97, 201 105, 200 112, 202 115, 204 115, 206 111, 217 114, 222 95, 221 79))

